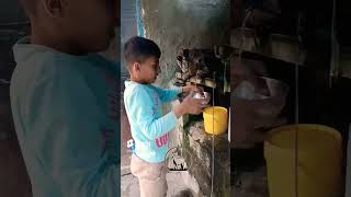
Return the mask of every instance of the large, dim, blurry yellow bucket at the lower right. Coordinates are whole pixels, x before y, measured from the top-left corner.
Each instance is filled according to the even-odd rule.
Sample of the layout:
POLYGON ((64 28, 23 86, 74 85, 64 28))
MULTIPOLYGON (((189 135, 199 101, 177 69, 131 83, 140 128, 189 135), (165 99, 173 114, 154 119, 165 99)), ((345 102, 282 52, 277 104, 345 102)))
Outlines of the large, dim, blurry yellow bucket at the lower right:
POLYGON ((264 141, 270 197, 296 196, 295 139, 298 197, 335 197, 340 194, 342 140, 321 125, 291 125, 273 129, 264 141))

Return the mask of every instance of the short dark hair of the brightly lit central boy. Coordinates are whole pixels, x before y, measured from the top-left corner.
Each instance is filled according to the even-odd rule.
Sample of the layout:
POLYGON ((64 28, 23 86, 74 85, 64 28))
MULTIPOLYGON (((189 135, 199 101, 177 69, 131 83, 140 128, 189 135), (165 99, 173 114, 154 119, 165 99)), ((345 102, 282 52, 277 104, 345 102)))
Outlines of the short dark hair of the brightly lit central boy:
POLYGON ((155 42, 139 36, 131 37, 124 45, 124 59, 131 62, 143 62, 150 56, 161 57, 161 50, 155 42))

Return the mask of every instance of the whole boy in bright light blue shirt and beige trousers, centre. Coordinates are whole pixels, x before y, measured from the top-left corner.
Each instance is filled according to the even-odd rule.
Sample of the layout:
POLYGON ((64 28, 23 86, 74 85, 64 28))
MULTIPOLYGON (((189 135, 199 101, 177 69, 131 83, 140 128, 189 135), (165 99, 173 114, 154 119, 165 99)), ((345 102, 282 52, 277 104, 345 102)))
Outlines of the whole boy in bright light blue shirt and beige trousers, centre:
POLYGON ((150 39, 132 37, 125 44, 124 58, 131 74, 125 82, 124 104, 135 141, 131 171, 138 177, 141 197, 167 195, 165 157, 169 132, 176 128, 177 118, 184 114, 200 114, 201 100, 193 99, 201 88, 188 85, 165 90, 152 85, 159 73, 159 47, 150 39), (172 102, 182 92, 191 92, 171 112, 161 114, 161 104, 172 102))

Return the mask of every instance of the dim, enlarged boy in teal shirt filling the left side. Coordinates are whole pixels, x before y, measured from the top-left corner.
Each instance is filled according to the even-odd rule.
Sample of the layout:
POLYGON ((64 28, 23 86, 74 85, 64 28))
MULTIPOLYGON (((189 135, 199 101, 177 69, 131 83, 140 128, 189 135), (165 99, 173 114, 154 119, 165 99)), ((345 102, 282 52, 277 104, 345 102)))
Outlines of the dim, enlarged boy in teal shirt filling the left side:
POLYGON ((113 38, 113 1, 21 3, 32 35, 13 47, 10 94, 33 197, 120 196, 120 71, 93 54, 113 38))

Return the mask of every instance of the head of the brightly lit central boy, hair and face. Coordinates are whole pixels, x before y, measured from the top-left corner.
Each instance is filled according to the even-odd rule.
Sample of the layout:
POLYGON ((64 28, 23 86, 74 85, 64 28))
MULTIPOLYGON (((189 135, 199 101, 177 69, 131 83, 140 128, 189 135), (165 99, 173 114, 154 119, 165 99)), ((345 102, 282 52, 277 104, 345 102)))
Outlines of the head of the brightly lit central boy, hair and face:
POLYGON ((157 79, 160 71, 160 48, 150 39, 132 37, 124 45, 124 59, 131 74, 131 80, 150 84, 157 79))

